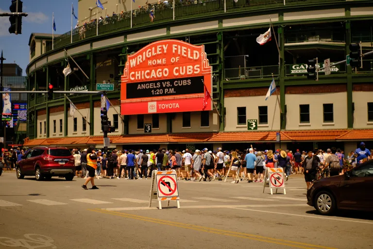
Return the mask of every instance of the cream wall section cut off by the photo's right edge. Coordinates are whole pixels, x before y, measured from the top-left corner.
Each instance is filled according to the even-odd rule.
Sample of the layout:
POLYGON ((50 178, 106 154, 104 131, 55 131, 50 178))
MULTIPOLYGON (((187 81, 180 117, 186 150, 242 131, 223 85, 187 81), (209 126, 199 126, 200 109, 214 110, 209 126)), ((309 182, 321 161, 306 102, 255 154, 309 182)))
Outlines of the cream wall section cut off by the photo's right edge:
POLYGON ((354 128, 372 129, 373 122, 368 121, 368 102, 373 102, 371 91, 354 91, 352 101, 355 103, 354 128))

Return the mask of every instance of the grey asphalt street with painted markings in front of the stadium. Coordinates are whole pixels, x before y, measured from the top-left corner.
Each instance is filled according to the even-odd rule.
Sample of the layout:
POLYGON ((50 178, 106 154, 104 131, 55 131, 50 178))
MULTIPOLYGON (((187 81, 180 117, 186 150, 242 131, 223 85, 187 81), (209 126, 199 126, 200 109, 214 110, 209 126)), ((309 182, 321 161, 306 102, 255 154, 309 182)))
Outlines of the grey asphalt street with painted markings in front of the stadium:
POLYGON ((157 201, 148 208, 150 178, 99 179, 99 190, 83 190, 81 178, 4 172, 0 249, 373 248, 372 214, 318 215, 304 178, 286 183, 286 195, 271 195, 262 183, 179 181, 181 208, 171 201, 159 210, 157 201))

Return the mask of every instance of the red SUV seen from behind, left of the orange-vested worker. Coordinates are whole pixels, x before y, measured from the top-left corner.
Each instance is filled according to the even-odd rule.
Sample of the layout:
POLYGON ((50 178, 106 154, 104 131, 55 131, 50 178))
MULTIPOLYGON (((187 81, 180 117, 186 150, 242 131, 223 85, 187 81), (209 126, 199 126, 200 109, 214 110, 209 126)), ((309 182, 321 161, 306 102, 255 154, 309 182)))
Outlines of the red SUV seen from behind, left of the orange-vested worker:
POLYGON ((41 181, 43 178, 64 176, 71 181, 74 171, 74 157, 66 147, 34 147, 17 163, 18 179, 35 176, 37 181, 41 181))

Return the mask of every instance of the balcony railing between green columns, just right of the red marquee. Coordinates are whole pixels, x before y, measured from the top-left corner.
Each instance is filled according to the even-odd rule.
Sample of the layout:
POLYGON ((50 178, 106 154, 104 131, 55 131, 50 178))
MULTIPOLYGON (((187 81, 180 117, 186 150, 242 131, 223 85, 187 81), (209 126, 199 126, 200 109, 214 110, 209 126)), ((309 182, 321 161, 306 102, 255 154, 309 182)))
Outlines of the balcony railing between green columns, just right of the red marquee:
POLYGON ((224 70, 225 80, 246 80, 252 78, 269 78, 278 76, 278 65, 250 68, 230 68, 224 70))

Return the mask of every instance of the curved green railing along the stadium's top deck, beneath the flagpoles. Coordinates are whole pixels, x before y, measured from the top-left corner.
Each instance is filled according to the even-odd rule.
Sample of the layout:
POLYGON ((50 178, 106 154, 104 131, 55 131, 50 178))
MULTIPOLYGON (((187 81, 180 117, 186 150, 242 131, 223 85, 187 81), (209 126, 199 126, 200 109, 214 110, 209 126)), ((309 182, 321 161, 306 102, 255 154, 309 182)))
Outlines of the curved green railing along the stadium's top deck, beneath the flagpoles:
MULTIPOLYGON (((332 2, 345 0, 327 0, 332 2)), ((322 3, 325 0, 286 0, 286 5, 303 4, 303 3, 322 3)), ((175 0, 175 19, 188 18, 192 16, 200 16, 204 14, 224 13, 223 0, 175 0)), ((283 0, 239 0, 237 3, 233 0, 226 0, 225 11, 250 10, 263 7, 283 6, 283 0)), ((154 22, 169 21, 173 19, 173 1, 168 4, 160 3, 153 4, 154 22)), ((132 25, 138 27, 151 24, 150 8, 141 7, 132 12, 132 25)), ((103 35, 119 30, 131 28, 131 11, 127 11, 112 17, 107 17, 99 20, 98 34, 103 35)), ((70 31, 54 38, 54 48, 62 47, 70 43, 70 31)), ((96 20, 85 23, 83 26, 73 29, 72 41, 85 39, 96 36, 96 20)), ((291 42, 291 41, 290 41, 291 42)), ((46 51, 51 50, 51 45, 46 47, 46 51)))

